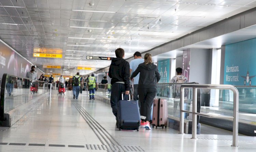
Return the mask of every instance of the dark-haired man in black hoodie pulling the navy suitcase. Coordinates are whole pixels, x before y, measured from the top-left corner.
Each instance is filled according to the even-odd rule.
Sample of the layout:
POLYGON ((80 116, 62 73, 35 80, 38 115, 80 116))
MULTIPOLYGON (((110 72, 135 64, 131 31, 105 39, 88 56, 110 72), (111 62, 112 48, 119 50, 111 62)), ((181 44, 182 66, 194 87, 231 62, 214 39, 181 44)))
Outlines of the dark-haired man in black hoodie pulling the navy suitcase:
POLYGON ((109 77, 112 78, 110 102, 112 112, 117 120, 117 102, 122 99, 122 92, 128 95, 130 90, 130 65, 123 59, 125 57, 124 49, 116 49, 115 54, 116 58, 112 59, 109 67, 109 77))

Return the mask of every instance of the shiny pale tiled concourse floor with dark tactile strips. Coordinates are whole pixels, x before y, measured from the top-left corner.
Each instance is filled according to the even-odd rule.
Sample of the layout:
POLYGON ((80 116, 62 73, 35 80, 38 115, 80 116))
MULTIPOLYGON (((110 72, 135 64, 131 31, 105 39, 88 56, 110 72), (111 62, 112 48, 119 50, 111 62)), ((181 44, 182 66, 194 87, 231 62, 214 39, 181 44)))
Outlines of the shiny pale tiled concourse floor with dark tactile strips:
MULTIPOLYGON (((0 151, 93 152, 104 151, 103 145, 106 145, 107 142, 113 142, 116 146, 104 147, 105 151, 107 149, 109 151, 146 152, 256 151, 256 137, 239 136, 239 140, 244 141, 239 141, 240 147, 237 148, 230 146, 232 135, 201 134, 198 135, 199 139, 195 140, 190 139, 191 135, 180 135, 178 131, 170 128, 140 129, 139 132, 119 131, 115 128, 115 117, 108 104, 97 99, 88 100, 86 93, 80 94, 78 100, 73 100, 71 95, 72 92, 65 96, 57 96, 57 92, 54 90, 51 100, 45 100, 38 109, 27 116, 24 122, 17 123, 7 131, 0 132, 0 142, 26 144, 25 146, 0 145, 0 151), (86 110, 87 113, 85 111, 80 112, 91 127, 94 126, 92 128, 95 132, 76 108, 86 110), (99 122, 102 128, 90 116, 99 122), (45 146, 29 146, 29 144, 45 144, 45 146), (65 147, 50 147, 50 144, 64 145, 65 147), (68 147, 68 145, 84 146, 84 148, 68 147)), ((207 130, 207 127, 204 130, 207 130)))

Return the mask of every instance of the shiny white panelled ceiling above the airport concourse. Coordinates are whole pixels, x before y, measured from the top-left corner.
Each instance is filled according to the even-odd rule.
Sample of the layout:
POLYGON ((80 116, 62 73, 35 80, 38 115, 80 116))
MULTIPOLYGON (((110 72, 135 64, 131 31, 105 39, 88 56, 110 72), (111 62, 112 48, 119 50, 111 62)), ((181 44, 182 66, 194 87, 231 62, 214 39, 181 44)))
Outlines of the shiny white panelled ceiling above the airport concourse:
MULTIPOLYGON (((0 37, 4 41, 30 61, 37 63, 37 66, 44 71, 48 72, 47 69, 42 68, 46 63, 62 66, 72 64, 72 70, 68 71, 75 73, 79 65, 99 69, 110 64, 110 61, 86 60, 86 55, 114 57, 115 49, 121 47, 125 49, 125 57, 128 58, 138 50, 141 52, 150 50, 249 10, 256 6, 256 2, 254 0, 0 0, 0 5, 25 7, 0 7, 0 23, 7 23, 0 24, 0 37), (90 27, 102 29, 89 29, 90 27), (66 57, 65 54, 83 56, 75 61, 65 58, 33 58, 33 48, 62 49, 63 57, 66 57)), ((175 53, 166 54, 165 57, 169 57, 168 55, 174 56, 175 53)), ((51 70, 54 73, 64 71, 51 70)), ((81 72, 87 74, 91 71, 81 72)))

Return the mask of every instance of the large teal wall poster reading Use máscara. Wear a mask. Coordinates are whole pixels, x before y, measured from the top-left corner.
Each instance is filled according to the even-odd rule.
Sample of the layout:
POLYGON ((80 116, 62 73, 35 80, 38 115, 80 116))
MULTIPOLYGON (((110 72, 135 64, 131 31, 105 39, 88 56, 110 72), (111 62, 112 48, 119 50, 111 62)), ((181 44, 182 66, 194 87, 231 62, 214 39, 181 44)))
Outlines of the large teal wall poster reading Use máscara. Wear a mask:
POLYGON ((226 45, 224 84, 256 85, 256 39, 226 45))

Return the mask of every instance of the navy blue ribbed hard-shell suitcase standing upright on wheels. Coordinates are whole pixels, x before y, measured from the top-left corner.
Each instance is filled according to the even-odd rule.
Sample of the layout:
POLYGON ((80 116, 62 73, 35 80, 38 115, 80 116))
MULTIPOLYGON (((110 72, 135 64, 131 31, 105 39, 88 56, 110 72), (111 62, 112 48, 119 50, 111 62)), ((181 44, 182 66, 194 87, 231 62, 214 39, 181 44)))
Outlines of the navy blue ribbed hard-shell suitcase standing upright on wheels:
POLYGON ((137 130, 140 127, 140 111, 138 101, 124 100, 122 93, 122 100, 117 104, 117 120, 119 130, 137 130))

